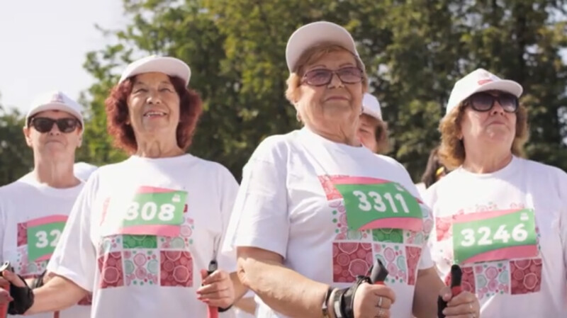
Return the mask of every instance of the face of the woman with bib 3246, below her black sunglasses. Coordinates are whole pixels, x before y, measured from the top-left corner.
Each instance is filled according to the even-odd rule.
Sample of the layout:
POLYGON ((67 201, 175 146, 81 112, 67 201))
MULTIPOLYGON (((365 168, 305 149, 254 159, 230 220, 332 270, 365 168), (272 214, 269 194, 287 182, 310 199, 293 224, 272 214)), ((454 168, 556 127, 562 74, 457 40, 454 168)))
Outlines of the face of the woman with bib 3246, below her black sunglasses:
MULTIPOLYGON (((490 91, 493 96, 498 96, 499 93, 490 91)), ((467 144, 471 144, 471 147, 477 147, 478 144, 492 144, 510 149, 516 135, 516 120, 516 113, 505 112, 498 98, 494 101, 493 108, 488 111, 481 112, 466 106, 461 119, 461 134, 465 149, 467 144)))

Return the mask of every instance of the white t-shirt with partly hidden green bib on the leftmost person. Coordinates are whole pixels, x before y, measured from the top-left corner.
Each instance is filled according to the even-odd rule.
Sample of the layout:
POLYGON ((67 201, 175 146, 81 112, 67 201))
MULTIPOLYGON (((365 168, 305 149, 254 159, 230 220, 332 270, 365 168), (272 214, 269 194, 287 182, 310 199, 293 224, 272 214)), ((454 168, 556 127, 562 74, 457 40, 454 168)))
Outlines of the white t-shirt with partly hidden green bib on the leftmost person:
MULTIPOLYGON (((14 271, 23 278, 38 277, 55 249, 64 222, 83 188, 51 188, 26 174, 18 181, 0 188, 0 255, 10 261, 14 271)), ((61 318, 90 317, 90 301, 60 312, 61 318)), ((52 313, 29 317, 52 318, 52 313)))

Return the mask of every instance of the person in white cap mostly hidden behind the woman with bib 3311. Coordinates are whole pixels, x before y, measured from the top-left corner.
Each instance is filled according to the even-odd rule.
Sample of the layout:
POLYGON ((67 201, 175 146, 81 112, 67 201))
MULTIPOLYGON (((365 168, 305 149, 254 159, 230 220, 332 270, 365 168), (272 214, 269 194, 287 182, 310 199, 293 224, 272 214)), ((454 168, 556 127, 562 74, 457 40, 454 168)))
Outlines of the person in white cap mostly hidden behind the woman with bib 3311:
POLYGON ((382 110, 378 98, 364 93, 362 115, 360 115, 360 142, 376 154, 386 154, 390 149, 388 142, 388 124, 382 119, 382 110))

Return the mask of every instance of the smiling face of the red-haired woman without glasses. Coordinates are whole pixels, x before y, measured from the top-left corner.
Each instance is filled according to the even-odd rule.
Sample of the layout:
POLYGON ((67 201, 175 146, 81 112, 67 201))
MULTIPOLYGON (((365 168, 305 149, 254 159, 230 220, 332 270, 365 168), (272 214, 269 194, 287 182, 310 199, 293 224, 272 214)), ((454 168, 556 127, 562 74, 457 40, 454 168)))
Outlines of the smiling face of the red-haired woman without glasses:
POLYGON ((128 113, 138 142, 150 136, 175 140, 179 125, 179 95, 169 76, 163 73, 135 76, 128 96, 128 113))

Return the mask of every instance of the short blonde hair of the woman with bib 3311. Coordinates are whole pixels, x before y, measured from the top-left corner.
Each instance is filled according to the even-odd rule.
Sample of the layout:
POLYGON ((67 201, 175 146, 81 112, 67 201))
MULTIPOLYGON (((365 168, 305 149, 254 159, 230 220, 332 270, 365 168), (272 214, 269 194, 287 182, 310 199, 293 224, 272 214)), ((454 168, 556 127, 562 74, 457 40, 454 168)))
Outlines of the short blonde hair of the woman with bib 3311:
MULTIPOLYGON (((344 47, 332 43, 321 43, 320 45, 315 45, 314 47, 310 47, 308 50, 305 50, 301 57, 299 57, 296 67, 293 68, 293 72, 289 74, 289 77, 286 81, 288 85, 286 89, 286 98, 291 103, 295 103, 298 100, 298 87, 301 86, 301 78, 303 77, 303 72, 305 71, 305 66, 311 64, 321 57, 329 54, 330 52, 340 52, 345 51, 350 52, 349 50, 345 49, 344 47)), ((354 56, 354 59, 357 61, 357 67, 362 70, 362 88, 363 93, 368 91, 368 75, 366 74, 366 69, 364 69, 364 64, 362 64, 359 57, 354 56)))

